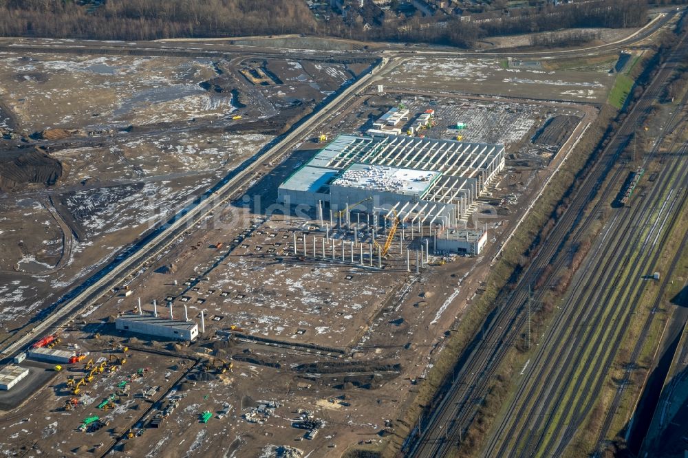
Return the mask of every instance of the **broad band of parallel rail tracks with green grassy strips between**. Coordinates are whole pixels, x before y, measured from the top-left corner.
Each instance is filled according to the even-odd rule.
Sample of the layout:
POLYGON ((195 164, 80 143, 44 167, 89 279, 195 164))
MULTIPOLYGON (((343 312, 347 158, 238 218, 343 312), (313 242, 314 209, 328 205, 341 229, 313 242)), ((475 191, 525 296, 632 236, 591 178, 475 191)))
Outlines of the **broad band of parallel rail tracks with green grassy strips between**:
MULTIPOLYGON (((598 263, 596 256, 593 256, 583 270, 590 273, 580 275, 574 283, 573 294, 561 307, 563 312, 557 316, 556 323, 550 328, 552 332, 547 335, 535 362, 524 376, 524 382, 529 383, 519 389, 511 404, 513 408, 506 415, 506 419, 515 419, 515 422, 506 433, 502 430, 505 437, 502 446, 488 447, 486 455, 493 451, 499 454, 518 450, 521 450, 519 456, 540 455, 543 450, 554 450, 555 445, 557 451, 553 455, 558 456, 563 452, 563 445, 568 444, 575 428, 583 421, 596 399, 604 375, 616 355, 615 349, 623 338, 624 328, 612 323, 621 324, 621 318, 630 316, 642 292, 641 274, 654 265, 660 254, 660 250, 644 251, 643 248, 646 248, 647 240, 659 235, 661 228, 653 226, 647 235, 635 228, 649 217, 656 215, 658 219, 664 215, 664 211, 659 214, 654 212, 654 204, 661 204, 664 198, 661 192, 663 185, 677 176, 685 177, 685 171, 686 165, 681 164, 680 160, 675 161, 671 169, 658 180, 650 199, 645 200, 646 204, 638 204, 630 212, 617 213, 599 246, 591 250, 609 255, 603 256, 598 263), (625 265, 633 266, 629 274, 616 269, 625 265), (633 279, 632 284, 618 294, 616 285, 626 278, 633 279), (605 285, 611 286, 605 288, 605 285), (603 327, 608 331, 601 331, 603 327), (558 342, 566 343, 559 347, 558 342), (557 353, 560 348, 561 351, 557 353), (604 358, 598 358, 597 351, 600 349, 611 350, 605 353, 604 358), (585 370, 579 375, 576 370, 580 368, 585 370), (547 381, 550 381, 549 385, 547 381), (527 392, 526 386, 530 388, 527 392), (574 393, 585 393, 585 399, 575 397, 574 393), (570 396, 567 397, 567 394, 570 396), (516 403, 521 400, 523 404, 515 411, 516 403), (535 400, 533 404, 530 404, 531 400, 535 400), (562 412, 563 415, 556 415, 562 412), (557 441, 558 437, 561 440, 557 441), (512 442, 514 438, 516 440, 512 442), (557 444, 551 444, 552 441, 557 441, 557 444)), ((682 195, 674 193, 674 203, 679 198, 682 195)), ((661 210, 666 210, 668 214, 671 208, 664 206, 661 210)), ((677 215, 678 212, 674 212, 674 217, 677 215)), ((668 232, 664 234, 667 237, 668 232)))

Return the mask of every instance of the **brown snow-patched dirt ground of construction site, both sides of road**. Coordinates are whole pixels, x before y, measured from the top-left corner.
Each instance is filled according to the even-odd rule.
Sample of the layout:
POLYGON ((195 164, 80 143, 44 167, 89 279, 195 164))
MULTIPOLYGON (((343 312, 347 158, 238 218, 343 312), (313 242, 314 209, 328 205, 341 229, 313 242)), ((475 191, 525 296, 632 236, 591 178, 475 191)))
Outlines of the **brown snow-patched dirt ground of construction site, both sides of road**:
MULTIPOLYGON (((279 133, 271 122, 285 127, 366 65, 261 55, 0 58, 0 106, 17 120, 6 123, 3 144, 63 168, 52 186, 16 184, 0 195, 4 338, 265 149, 279 133)), ((35 390, 17 386, 19 406, 0 416, 0 452, 340 457, 408 428, 402 418, 418 382, 611 80, 544 64, 539 73, 508 72, 499 61, 406 64, 380 76, 385 94, 369 89, 319 120, 311 141, 261 164, 232 201, 65 323, 55 348, 88 356, 61 371, 32 369, 50 376, 35 390), (387 256, 371 259, 367 220, 356 235, 325 231, 314 212, 297 217, 277 203, 277 186, 321 147, 320 132, 362 133, 399 104, 409 122, 435 110, 438 122, 423 135, 505 144, 506 168, 466 221, 488 231, 480 255, 431 254, 416 273, 416 252, 436 228, 419 237, 405 227, 387 256), (118 331, 116 316, 138 313, 139 300, 143 314, 171 318, 171 307, 175 319, 188 317, 200 338, 118 331), (75 394, 70 385, 89 375, 75 394)), ((385 243, 384 228, 376 243, 385 243)))

